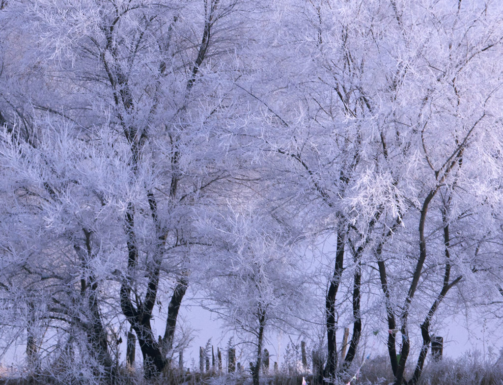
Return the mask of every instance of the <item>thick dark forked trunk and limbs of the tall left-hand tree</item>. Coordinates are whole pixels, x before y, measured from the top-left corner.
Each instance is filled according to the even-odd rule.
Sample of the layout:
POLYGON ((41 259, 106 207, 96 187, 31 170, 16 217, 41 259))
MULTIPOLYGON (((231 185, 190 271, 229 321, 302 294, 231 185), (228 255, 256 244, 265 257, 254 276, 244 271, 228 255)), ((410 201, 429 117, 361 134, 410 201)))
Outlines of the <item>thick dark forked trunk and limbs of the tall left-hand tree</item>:
MULTIPOLYGON (((211 30, 214 25, 214 17, 217 11, 219 1, 212 2, 210 9, 208 10, 207 19, 205 21, 203 36, 201 44, 199 46, 198 55, 193 62, 192 71, 190 78, 186 83, 187 93, 190 92, 191 88, 196 82, 197 74, 200 66, 206 58, 206 53, 210 44, 211 30)), ((127 120, 124 119, 125 114, 134 113, 134 97, 129 86, 129 78, 126 73, 124 73, 118 64, 120 58, 117 54, 117 49, 115 48, 115 36, 114 36, 114 24, 104 28, 105 31, 105 41, 106 41, 106 52, 103 51, 100 55, 102 64, 104 66, 107 78, 112 86, 114 92, 115 105, 118 108, 117 117, 123 129, 124 136, 128 141, 131 149, 132 155, 132 168, 133 172, 136 174, 138 172, 138 162, 140 160, 141 147, 144 144, 147 133, 138 132, 134 125, 130 125, 127 120), (109 58, 106 53, 110 54, 109 58), (124 114, 125 113, 125 114, 124 114)), ((159 66, 159 72, 162 73, 165 69, 165 63, 161 62, 159 66)), ((157 108, 157 104, 154 105, 152 111, 157 108)), ((177 168, 179 152, 175 151, 172 156, 172 165, 174 169, 177 168)), ((170 187, 170 198, 175 199, 176 191, 178 185, 178 177, 176 173, 173 174, 171 187, 170 187)), ((151 216, 155 225, 156 236, 157 236, 157 250, 156 250, 156 260, 154 260, 153 268, 150 271, 150 276, 148 277, 147 290, 143 302, 136 302, 133 305, 131 301, 131 291, 132 291, 132 272, 138 261, 138 250, 135 244, 135 233, 134 233, 134 205, 130 202, 126 210, 126 235, 127 235, 127 248, 128 248, 128 264, 127 264, 127 274, 123 279, 120 288, 120 303, 121 310, 124 316, 127 318, 132 328, 136 332, 140 349, 143 355, 143 365, 145 370, 145 376, 147 378, 152 377, 160 373, 166 366, 166 359, 163 354, 165 348, 158 343, 155 339, 152 328, 150 325, 150 319, 152 318, 152 309, 155 303, 155 298, 157 295, 158 282, 159 282, 159 272, 160 272, 160 262, 162 260, 162 253, 164 250, 164 242, 166 234, 161 231, 157 205, 155 198, 151 191, 147 191, 148 204, 150 206, 151 216)), ((168 318, 166 321, 166 331, 164 333, 164 338, 162 340, 162 345, 167 345, 170 349, 173 344, 173 334, 176 326, 176 319, 178 316, 178 310, 180 308, 180 303, 185 294, 187 288, 187 282, 182 280, 178 282, 175 287, 175 293, 170 302, 170 309, 168 318)))

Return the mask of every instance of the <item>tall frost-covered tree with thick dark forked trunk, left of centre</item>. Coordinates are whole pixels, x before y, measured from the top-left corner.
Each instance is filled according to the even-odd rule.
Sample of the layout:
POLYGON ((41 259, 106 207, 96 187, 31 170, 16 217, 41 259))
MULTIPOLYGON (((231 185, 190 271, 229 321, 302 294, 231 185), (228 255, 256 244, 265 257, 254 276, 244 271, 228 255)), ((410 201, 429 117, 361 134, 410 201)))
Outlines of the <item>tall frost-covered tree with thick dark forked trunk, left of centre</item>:
MULTIPOLYGON (((96 195, 94 205, 103 205, 90 211, 88 222, 98 221, 106 208, 115 210, 114 221, 107 220, 106 228, 118 241, 113 258, 98 244, 96 247, 113 261, 114 276, 120 281, 114 297, 136 332, 147 376, 166 365, 191 265, 197 259, 191 251, 191 245, 199 243, 192 215, 211 205, 214 198, 210 197, 221 194, 223 188, 217 185, 231 177, 232 162, 225 165, 229 146, 222 134, 229 134, 224 128, 232 130, 234 123, 227 120, 231 112, 234 118, 241 113, 228 96, 233 91, 233 77, 239 75, 233 73, 239 66, 229 52, 239 51, 243 28, 231 15, 239 16, 248 9, 234 1, 210 0, 170 5, 41 1, 10 8, 12 15, 29 20, 27 29, 37 31, 39 38, 23 32, 37 42, 40 66, 47 72, 41 76, 41 85, 52 91, 51 106, 42 110, 49 115, 49 126, 68 124, 63 136, 70 139, 60 139, 58 129, 54 135, 40 137, 48 129, 35 123, 38 115, 32 114, 26 121, 34 130, 24 135, 23 142, 18 134, 22 125, 14 113, 18 109, 7 100, 6 110, 14 112, 2 109, 6 135, 16 133, 5 143, 28 146, 22 151, 27 158, 33 156, 29 151, 39 151, 42 142, 54 146, 57 152, 48 153, 47 162, 57 163, 64 176, 59 168, 53 170, 39 160, 34 173, 46 194, 54 196, 57 207, 58 189, 49 178, 54 185, 65 183, 64 194, 72 200, 70 214, 89 206, 86 190, 96 195), (228 39, 230 31, 234 40, 228 39), (55 141, 53 145, 51 141, 55 141), (58 147, 58 142, 71 151, 58 147), (104 152, 102 143, 106 144, 104 152), (72 154, 86 159, 82 160, 89 163, 86 172, 100 179, 99 186, 80 180, 72 154), (109 163, 115 169, 101 168, 109 163), (70 174, 74 178, 66 180, 70 174), (169 304, 159 341, 151 319, 156 301, 161 300, 160 287, 172 295, 162 299, 169 304)), ((34 104, 35 96, 29 90, 23 97, 34 104)), ((68 221, 59 223, 59 217, 52 217, 43 219, 61 227, 72 239, 82 237, 73 250, 82 260, 94 258, 93 240, 106 238, 105 230, 95 230, 91 222, 79 230, 65 228, 68 221)), ((97 291, 96 272, 90 274, 86 287, 97 291)), ((97 298, 90 302, 99 312, 97 298)))

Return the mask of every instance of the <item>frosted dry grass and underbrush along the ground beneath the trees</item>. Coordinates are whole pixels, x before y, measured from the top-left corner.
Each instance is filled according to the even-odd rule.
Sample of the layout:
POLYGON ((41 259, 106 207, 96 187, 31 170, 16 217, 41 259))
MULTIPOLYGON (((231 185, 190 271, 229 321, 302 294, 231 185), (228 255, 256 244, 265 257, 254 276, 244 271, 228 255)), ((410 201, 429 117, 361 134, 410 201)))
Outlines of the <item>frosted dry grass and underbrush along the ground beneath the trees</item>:
MULTIPOLYGON (((425 366, 423 375, 418 385, 503 385, 503 358, 496 362, 483 361, 479 354, 471 353, 462 358, 444 358, 440 362, 430 361, 425 366)), ((106 381, 85 381, 78 376, 58 376, 48 375, 38 376, 18 376, 10 379, 0 376, 0 385, 83 385, 96 383, 101 385, 106 381)), ((54 374, 54 373, 53 373, 54 374)), ((408 378, 410 373, 406 373, 408 378)), ((301 385, 302 377, 305 377, 308 385, 316 385, 309 374, 287 374, 274 373, 263 374, 261 376, 262 385, 301 385)), ((345 385, 351 381, 351 385, 389 385, 393 383, 393 375, 390 369, 387 356, 378 356, 365 361, 363 365, 356 364, 342 378, 340 384, 345 385), (360 367, 360 370, 358 368, 360 367)), ((171 372, 164 374, 160 378, 146 380, 141 372, 128 372, 120 370, 115 379, 115 385, 251 385, 251 376, 246 371, 221 374, 207 372, 171 372)), ((336 384, 334 384, 336 385, 336 384)))

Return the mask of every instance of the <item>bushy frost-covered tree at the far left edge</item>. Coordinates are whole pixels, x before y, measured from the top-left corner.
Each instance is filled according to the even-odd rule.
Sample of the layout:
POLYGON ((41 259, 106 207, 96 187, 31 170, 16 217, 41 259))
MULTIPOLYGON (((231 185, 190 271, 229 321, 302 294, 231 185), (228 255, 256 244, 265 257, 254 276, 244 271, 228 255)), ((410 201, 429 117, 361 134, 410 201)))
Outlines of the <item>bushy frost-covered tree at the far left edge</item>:
MULTIPOLYGON (((117 305, 102 285, 109 281, 118 288, 113 271, 119 245, 111 236, 118 213, 100 182, 119 169, 113 162, 92 167, 97 148, 73 137, 64 124, 37 128, 44 133, 32 143, 20 143, 8 129, 2 136, 2 196, 10 202, 2 220, 2 287, 12 311, 26 309, 27 316, 18 321, 26 323, 30 361, 47 342, 37 329, 49 328, 47 338, 56 334, 69 345, 83 336, 80 354, 73 358, 91 362, 99 376, 103 369, 110 380, 114 368, 107 327, 117 305)), ((43 351, 51 358, 52 349, 43 351)))

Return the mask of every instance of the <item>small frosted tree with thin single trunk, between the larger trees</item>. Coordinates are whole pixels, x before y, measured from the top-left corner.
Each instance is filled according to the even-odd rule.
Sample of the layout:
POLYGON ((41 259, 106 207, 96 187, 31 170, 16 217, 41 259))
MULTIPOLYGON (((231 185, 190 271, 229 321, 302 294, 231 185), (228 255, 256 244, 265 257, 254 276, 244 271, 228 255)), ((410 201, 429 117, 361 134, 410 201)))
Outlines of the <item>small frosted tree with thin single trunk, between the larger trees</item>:
POLYGON ((310 308, 295 233, 257 202, 228 207, 201 226, 211 230, 215 247, 201 278, 210 300, 206 306, 253 346, 249 369, 257 385, 267 335, 298 328, 310 308))

